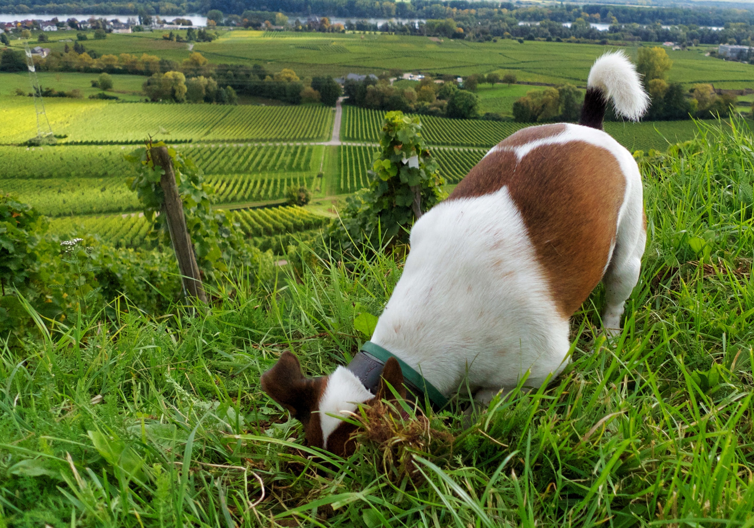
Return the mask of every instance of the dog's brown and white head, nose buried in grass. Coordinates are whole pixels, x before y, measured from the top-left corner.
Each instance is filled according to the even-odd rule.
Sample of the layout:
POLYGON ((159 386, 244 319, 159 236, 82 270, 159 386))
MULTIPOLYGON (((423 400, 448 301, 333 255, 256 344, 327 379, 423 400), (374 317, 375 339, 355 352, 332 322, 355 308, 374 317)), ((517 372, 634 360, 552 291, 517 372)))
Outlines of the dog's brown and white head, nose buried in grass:
POLYGON ((376 399, 388 398, 388 383, 401 398, 406 397, 403 373, 395 358, 390 358, 382 370, 377 394, 372 394, 350 370, 338 367, 329 376, 307 378, 301 372, 299 359, 284 351, 270 370, 262 374, 262 389, 278 404, 285 407, 304 425, 306 440, 339 456, 348 456, 356 445, 351 434, 356 425, 336 416, 348 416, 358 404, 369 404, 376 399), (330 416, 335 415, 335 416, 330 416))

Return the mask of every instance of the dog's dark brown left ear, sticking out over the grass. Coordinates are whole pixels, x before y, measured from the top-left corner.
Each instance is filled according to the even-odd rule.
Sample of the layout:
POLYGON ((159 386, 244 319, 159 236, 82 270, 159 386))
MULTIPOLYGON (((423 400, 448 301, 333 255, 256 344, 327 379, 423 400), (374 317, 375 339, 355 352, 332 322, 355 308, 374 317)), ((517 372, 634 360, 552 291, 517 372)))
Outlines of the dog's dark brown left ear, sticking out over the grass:
POLYGON ((284 351, 270 370, 262 374, 262 389, 278 404, 301 420, 308 422, 309 415, 320 399, 318 379, 306 378, 301 372, 299 358, 284 351))

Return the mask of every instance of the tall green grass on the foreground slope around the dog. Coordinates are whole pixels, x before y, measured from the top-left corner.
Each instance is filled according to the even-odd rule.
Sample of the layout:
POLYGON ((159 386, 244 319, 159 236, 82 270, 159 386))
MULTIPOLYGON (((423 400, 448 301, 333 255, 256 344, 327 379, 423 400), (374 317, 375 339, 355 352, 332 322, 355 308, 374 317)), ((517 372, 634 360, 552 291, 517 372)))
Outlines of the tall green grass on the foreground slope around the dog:
POLYGON ((305 447, 260 390, 285 349, 309 375, 351 358, 366 339, 354 316, 379 315, 400 278, 381 252, 280 268, 268 290, 229 280, 194 315, 123 299, 6 346, 4 522, 752 526, 754 142, 737 123, 700 126, 642 161, 649 241, 622 336, 599 335, 598 288, 566 371, 495 398, 470 428, 463 398, 421 431, 367 414, 339 459, 305 447), (387 440, 372 434, 385 424, 387 440))

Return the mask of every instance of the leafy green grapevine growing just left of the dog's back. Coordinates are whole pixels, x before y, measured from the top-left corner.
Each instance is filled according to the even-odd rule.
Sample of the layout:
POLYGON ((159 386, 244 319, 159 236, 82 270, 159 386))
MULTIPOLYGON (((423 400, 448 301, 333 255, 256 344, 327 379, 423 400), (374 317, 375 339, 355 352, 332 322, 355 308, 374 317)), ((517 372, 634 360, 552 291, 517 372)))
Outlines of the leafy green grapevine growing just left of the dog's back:
POLYGON ((419 118, 388 112, 369 186, 347 199, 342 216, 330 225, 330 235, 347 250, 366 239, 372 247, 381 247, 389 238, 406 241, 404 228, 446 198, 444 183, 421 137, 419 118))

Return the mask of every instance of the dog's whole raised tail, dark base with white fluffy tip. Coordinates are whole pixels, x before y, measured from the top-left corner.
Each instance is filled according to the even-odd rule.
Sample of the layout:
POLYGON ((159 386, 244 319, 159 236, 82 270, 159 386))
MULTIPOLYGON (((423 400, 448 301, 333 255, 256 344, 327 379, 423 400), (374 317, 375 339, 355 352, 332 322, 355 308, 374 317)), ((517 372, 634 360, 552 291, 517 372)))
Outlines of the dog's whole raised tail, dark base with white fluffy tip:
POLYGON ((639 73, 623 51, 606 53, 594 61, 578 123, 602 130, 608 100, 618 115, 632 121, 642 117, 649 106, 639 73))

